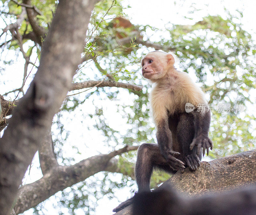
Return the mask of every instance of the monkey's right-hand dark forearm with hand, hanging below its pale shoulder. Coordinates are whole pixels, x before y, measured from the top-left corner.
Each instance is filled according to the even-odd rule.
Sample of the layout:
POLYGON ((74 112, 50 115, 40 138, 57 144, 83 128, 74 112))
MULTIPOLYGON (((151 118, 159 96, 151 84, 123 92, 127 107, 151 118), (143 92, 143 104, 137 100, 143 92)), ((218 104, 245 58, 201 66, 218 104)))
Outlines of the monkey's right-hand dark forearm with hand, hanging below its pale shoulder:
POLYGON ((205 153, 205 149, 207 151, 207 155, 209 153, 209 148, 212 150, 212 141, 208 137, 210 121, 211 121, 211 112, 207 108, 205 111, 197 110, 193 111, 193 115, 195 117, 195 137, 190 144, 190 150, 197 146, 197 153, 200 153, 201 148, 203 148, 203 155, 205 153))

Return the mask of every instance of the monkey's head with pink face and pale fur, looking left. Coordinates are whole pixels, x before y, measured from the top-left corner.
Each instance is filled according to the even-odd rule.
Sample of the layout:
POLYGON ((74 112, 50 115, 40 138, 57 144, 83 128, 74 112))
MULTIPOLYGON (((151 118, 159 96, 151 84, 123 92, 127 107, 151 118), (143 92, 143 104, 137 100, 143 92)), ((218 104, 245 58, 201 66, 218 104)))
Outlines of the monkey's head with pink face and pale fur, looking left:
POLYGON ((174 62, 172 54, 161 51, 149 52, 141 61, 142 75, 154 82, 163 78, 173 68, 174 62))

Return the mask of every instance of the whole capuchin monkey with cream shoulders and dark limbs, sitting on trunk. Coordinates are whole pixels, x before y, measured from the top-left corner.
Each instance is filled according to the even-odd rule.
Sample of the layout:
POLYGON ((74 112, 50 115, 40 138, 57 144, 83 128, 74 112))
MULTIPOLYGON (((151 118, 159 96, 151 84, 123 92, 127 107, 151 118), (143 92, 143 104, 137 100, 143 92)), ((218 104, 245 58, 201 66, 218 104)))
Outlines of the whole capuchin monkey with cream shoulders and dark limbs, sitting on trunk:
MULTIPOLYGON (((208 137, 211 113, 204 93, 187 73, 174 68, 174 57, 153 51, 141 61, 143 77, 154 84, 149 98, 157 144, 144 143, 138 149, 135 177, 139 193, 150 190, 154 168, 171 174, 185 167, 195 171, 205 150, 207 155, 212 150, 208 137)), ((132 198, 113 211, 130 204, 132 198)))

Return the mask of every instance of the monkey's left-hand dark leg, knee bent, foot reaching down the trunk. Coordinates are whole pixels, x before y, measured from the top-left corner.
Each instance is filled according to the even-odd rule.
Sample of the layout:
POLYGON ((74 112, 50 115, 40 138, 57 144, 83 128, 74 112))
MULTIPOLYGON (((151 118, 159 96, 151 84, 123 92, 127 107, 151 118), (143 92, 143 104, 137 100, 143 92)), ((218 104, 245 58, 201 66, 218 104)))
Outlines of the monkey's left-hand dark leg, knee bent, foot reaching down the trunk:
MULTIPOLYGON (((168 173, 176 173, 166 159, 161 155, 157 144, 144 143, 138 149, 135 165, 135 177, 138 184, 138 192, 150 190, 150 178, 153 168, 164 170, 168 173)), ((132 198, 119 204, 113 211, 117 212, 132 204, 132 198)))

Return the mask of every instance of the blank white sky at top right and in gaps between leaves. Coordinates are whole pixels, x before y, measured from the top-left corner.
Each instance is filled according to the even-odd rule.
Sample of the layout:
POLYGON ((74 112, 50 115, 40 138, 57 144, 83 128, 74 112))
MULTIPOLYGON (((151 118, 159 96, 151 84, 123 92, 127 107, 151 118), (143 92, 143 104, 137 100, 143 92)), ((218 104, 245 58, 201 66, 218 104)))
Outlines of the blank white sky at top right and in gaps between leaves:
MULTIPOLYGON (((125 9, 125 13, 128 15, 128 18, 131 20, 131 22, 135 25, 150 25, 150 26, 155 26, 157 28, 164 28, 164 25, 167 24, 168 22, 171 22, 173 24, 193 24, 197 21, 200 21, 202 17, 206 16, 208 13, 211 15, 219 14, 224 16, 225 15, 225 10, 224 8, 226 7, 231 13, 236 13, 236 10, 242 10, 244 11, 244 17, 242 19, 242 23, 244 25, 244 29, 252 33, 255 37, 255 32, 256 32, 256 23, 255 23, 255 8, 256 8, 256 1, 254 0, 215 0, 215 1, 210 1, 210 0, 197 0, 197 1, 191 1, 191 0, 181 0, 181 1, 173 1, 173 0, 160 0, 160 1, 152 1, 152 0, 124 0, 122 3, 124 6, 129 4, 131 7, 125 9), (175 4, 176 2, 176 4, 175 4), (193 4, 194 3, 194 4, 193 4), (200 11, 195 12, 194 14, 189 13, 189 11, 193 11, 193 7, 196 7, 197 9, 201 9, 200 11), (184 19, 185 17, 191 18, 191 19, 184 19)), ((225 17, 224 17, 225 18, 225 17)), ((3 26, 2 20, 0 20, 0 26, 3 26)), ((151 32, 154 34, 154 32, 151 32)), ((153 39, 157 39, 153 37, 153 39)), ((15 54, 15 53, 14 53, 15 54)), ((2 56, 4 56, 2 54, 2 56)), ((11 59, 12 56, 5 56, 6 60, 11 59)), ((34 57, 36 58, 36 57, 34 57)), ((24 60, 22 59, 22 56, 18 58, 18 62, 13 64, 11 67, 6 70, 2 77, 0 78, 0 94, 3 94, 5 92, 8 92, 12 90, 13 86, 16 86, 17 88, 21 85, 22 83, 22 78, 23 78, 23 63, 24 60), (15 79, 13 79, 15 77, 15 79)), ((34 59, 36 60, 36 59, 34 59)), ((33 60, 32 60, 33 61, 33 60)), ((32 78, 28 79, 28 83, 32 78)), ((124 92, 124 98, 126 100, 124 102, 131 103, 133 101, 133 97, 127 93, 127 91, 124 92)), ((13 99, 13 98, 11 98, 13 99)), ((101 105, 101 104, 99 104, 101 105)), ((105 108, 106 112, 108 115, 114 115, 116 111, 115 107, 111 103, 106 103, 104 104, 106 107, 105 108)), ((88 99, 88 103, 86 108, 90 110, 90 108, 93 109, 93 104, 90 106, 90 99, 88 99)), ((70 130, 71 137, 70 139, 73 139, 76 143, 81 143, 83 142, 84 136, 88 137, 88 144, 87 148, 82 150, 81 155, 77 155, 76 159, 81 160, 84 159, 85 157, 90 157, 94 154, 98 154, 97 151, 97 145, 100 145, 100 142, 102 142, 103 139, 99 137, 97 131, 90 131, 90 133, 84 133, 83 135, 79 136, 76 135, 77 131, 81 128, 83 128, 85 125, 81 125, 81 122, 79 121, 79 118, 84 117, 81 115, 80 110, 74 111, 72 113, 73 117, 68 117, 68 118, 73 118, 73 119, 78 119, 72 120, 68 122, 68 130, 70 130), (73 132, 72 132, 73 131, 73 132), (94 138, 97 137, 97 138, 94 138)), ((118 116, 117 116, 118 117, 118 116)), ((122 118, 117 118, 115 121, 111 122, 112 124, 110 125, 114 129, 120 129, 123 127, 123 124, 126 123, 126 121, 122 118)), ((125 128, 123 128, 124 131, 121 130, 121 132, 125 132, 125 128)), ((88 131, 89 132, 89 131, 88 131)), ((73 149, 71 146, 65 146, 63 149, 64 153, 65 152, 72 152, 73 149)), ((108 152, 108 148, 106 147, 105 149, 103 148, 103 152, 108 152)), ((75 153, 75 151, 73 151, 75 153)), ((73 153, 72 152, 72 153, 73 153)), ((206 158, 207 160, 207 158, 206 158)), ((34 166, 31 169, 32 174, 30 176, 26 177, 26 182, 33 182, 37 179, 39 179, 42 174, 38 173, 37 168, 39 167, 38 165, 38 155, 35 156, 34 160, 34 166)), ((117 175, 117 178, 115 180, 118 180, 118 177, 121 177, 121 175, 117 175)), ((131 197, 131 190, 136 189, 136 186, 130 188, 124 188, 124 189, 119 189, 117 190, 116 196, 118 196, 118 199, 120 201, 126 200, 128 197, 131 197)), ((51 197, 52 199, 52 197, 51 197)), ((54 199, 52 199, 54 201, 54 199)), ((51 202, 50 202, 51 203, 51 202)), ((47 206, 51 207, 51 204, 46 204, 45 207, 47 206)), ((96 214, 113 214, 112 209, 115 208, 119 204, 118 200, 116 198, 109 200, 107 197, 103 197, 99 201, 99 206, 96 209, 96 214)), ((48 207, 48 209, 49 209, 48 207)), ((54 211, 54 208, 51 209, 51 214, 55 214, 56 211, 54 211)), ((64 211, 65 212, 65 209, 64 211)), ((31 210, 25 212, 24 214, 30 215, 32 214, 31 210)), ((68 213, 67 213, 68 214, 68 213)), ((83 214, 83 211, 78 211, 77 214, 83 214)))

